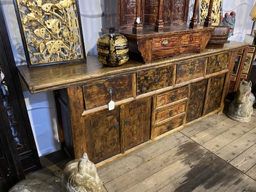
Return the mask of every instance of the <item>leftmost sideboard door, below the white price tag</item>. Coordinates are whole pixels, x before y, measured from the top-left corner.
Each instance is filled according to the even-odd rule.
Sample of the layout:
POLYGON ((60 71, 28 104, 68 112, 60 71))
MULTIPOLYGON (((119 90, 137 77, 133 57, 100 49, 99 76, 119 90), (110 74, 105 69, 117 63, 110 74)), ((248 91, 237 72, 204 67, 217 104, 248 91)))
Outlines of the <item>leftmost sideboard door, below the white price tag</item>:
POLYGON ((120 109, 104 110, 85 117, 87 153, 92 162, 101 162, 120 153, 120 109))

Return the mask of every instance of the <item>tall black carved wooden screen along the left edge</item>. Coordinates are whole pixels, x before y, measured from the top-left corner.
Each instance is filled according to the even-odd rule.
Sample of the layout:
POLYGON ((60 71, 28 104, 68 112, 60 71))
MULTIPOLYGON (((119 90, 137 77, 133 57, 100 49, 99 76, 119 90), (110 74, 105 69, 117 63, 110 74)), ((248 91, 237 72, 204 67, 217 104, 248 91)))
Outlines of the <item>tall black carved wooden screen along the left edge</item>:
POLYGON ((9 148, 17 151, 22 169, 24 172, 29 172, 38 169, 41 165, 1 9, 0 23, 0 105, 3 107, 1 112, 7 114, 8 127, 5 129, 9 129, 12 141, 15 143, 15 149, 12 146, 9 148))

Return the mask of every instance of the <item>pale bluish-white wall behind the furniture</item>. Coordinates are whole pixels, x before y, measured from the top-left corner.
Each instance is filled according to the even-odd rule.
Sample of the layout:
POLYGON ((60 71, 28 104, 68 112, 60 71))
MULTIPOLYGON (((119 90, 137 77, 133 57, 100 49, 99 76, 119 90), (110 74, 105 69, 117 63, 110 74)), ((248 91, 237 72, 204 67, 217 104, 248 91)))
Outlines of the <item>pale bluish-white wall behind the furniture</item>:
MULTIPOLYGON (((223 13, 236 12, 234 36, 230 40, 244 41, 246 34, 251 32, 252 20, 249 17, 249 12, 255 1, 236 0, 231 3, 230 0, 223 0, 223 13)), ((7 20, 15 61, 17 64, 26 64, 12 0, 1 0, 1 3, 4 6, 4 14, 7 20)), ((193 9, 193 4, 194 0, 191 0, 190 9, 193 9)), ((79 0, 79 5, 86 55, 96 55, 96 41, 102 35, 101 28, 104 25, 104 0, 79 0)), ((189 20, 191 18, 191 11, 189 12, 189 20)), ((52 93, 46 92, 31 95, 25 86, 23 90, 30 122, 38 145, 38 153, 44 155, 58 150, 59 138, 57 135, 56 114, 52 93), (46 145, 47 143, 49 146, 46 145)))

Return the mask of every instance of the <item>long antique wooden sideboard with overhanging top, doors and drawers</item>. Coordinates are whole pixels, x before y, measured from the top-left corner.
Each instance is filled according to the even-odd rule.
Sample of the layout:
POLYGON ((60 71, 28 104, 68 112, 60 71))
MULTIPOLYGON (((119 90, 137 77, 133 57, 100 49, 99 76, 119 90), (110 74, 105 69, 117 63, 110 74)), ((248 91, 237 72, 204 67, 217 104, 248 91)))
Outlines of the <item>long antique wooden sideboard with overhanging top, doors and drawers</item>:
POLYGON ((96 57, 55 66, 19 66, 31 93, 57 91, 65 146, 94 163, 126 154, 210 114, 223 112, 234 59, 247 43, 150 64, 103 67, 96 57), (115 101, 109 111, 108 103, 115 101), (115 157, 114 157, 115 156, 115 157))

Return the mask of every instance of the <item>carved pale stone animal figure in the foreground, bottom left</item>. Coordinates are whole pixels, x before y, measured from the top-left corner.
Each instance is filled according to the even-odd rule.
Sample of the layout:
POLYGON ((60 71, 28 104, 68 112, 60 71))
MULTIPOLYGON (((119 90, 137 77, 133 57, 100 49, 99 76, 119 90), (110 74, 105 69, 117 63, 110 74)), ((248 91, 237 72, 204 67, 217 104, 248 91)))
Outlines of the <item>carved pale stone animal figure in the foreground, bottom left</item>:
POLYGON ((9 192, 104 192, 102 180, 86 153, 65 165, 60 181, 21 180, 9 192))

